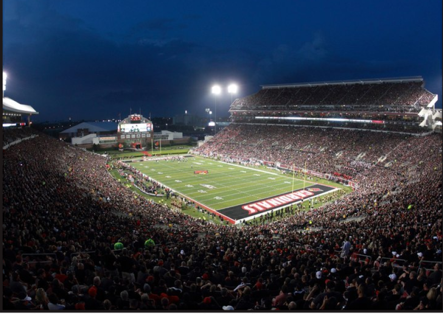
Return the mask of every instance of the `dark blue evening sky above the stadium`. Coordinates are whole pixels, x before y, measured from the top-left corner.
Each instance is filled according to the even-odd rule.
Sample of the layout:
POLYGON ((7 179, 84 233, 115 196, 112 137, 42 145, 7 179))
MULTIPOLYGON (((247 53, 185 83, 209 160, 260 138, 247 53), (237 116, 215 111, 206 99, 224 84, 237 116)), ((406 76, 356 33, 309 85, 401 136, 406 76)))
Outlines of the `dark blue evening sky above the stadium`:
MULTIPOLYGON (((213 110, 213 83, 421 75, 442 86, 441 0, 4 0, 5 96, 34 121, 213 110)), ((228 116, 231 96, 217 99, 228 116)))

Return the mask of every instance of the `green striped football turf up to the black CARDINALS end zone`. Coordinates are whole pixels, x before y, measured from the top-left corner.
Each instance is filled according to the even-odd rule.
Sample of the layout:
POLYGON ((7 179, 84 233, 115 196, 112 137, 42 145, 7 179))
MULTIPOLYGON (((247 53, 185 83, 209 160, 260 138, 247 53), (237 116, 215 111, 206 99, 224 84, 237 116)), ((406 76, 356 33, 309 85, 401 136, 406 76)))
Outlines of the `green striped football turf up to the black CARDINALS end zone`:
POLYGON ((216 211, 315 184, 274 169, 249 168, 198 156, 185 159, 134 161, 130 165, 216 211), (196 170, 208 173, 194 174, 196 170))

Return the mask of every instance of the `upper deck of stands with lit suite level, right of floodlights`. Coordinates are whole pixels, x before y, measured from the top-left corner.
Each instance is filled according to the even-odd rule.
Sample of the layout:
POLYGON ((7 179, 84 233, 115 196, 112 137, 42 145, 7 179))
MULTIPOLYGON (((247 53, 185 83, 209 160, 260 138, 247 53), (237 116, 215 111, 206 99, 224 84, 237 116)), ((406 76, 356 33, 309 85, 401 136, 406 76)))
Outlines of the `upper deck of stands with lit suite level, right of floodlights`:
POLYGON ((417 113, 434 97, 421 77, 264 85, 257 93, 236 99, 230 113, 234 122, 243 123, 330 126, 337 123, 313 118, 345 118, 356 120, 346 128, 420 133, 425 129, 418 127, 417 113), (373 120, 381 125, 374 126, 373 120))

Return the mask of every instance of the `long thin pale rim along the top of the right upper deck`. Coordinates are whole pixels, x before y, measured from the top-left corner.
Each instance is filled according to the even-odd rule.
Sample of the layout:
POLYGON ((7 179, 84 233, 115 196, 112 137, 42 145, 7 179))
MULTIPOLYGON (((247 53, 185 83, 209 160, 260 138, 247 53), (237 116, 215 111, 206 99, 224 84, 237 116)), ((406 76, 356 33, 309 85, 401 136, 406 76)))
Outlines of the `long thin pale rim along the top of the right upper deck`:
POLYGON ((287 87, 312 87, 319 85, 351 85, 351 84, 381 84, 381 83, 404 83, 404 82, 422 82, 421 76, 407 76, 394 78, 369 78, 344 81, 326 81, 326 82, 305 82, 292 84, 270 84, 260 85, 263 89, 268 88, 287 88, 287 87))

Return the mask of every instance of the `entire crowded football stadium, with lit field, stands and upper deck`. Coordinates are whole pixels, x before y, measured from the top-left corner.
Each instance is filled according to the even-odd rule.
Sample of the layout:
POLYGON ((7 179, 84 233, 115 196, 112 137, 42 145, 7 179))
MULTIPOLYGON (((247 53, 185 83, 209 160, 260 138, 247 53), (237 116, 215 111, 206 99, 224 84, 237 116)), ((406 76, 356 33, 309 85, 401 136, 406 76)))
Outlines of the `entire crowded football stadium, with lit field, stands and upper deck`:
POLYGON ((421 77, 263 85, 201 146, 134 158, 4 128, 3 309, 441 309, 436 101, 421 77))

